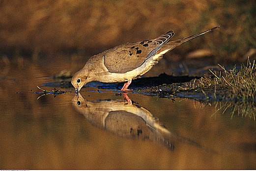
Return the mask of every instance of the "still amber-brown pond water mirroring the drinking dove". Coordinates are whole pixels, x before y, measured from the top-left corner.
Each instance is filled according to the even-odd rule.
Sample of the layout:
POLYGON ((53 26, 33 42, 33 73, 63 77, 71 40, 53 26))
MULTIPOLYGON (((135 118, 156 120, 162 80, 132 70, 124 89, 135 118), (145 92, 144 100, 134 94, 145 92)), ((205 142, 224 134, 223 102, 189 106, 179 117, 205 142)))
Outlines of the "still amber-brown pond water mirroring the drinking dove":
POLYGON ((83 64, 17 58, 0 65, 1 169, 256 168, 256 122, 231 117, 229 108, 222 114, 219 105, 94 87, 78 97, 57 87, 67 92, 37 99, 37 85, 52 90, 42 85, 83 64))

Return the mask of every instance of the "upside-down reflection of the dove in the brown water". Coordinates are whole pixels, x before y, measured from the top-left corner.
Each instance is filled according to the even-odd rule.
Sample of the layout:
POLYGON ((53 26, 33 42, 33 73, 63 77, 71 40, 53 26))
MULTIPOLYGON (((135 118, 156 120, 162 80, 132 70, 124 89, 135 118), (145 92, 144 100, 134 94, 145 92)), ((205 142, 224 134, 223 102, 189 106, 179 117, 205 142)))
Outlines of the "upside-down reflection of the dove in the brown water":
MULTIPOLYGON (((128 95, 124 96, 127 99, 128 95)), ((147 109, 129 100, 87 101, 78 93, 72 99, 72 104, 91 125, 114 135, 157 142, 169 150, 174 150, 173 141, 201 147, 198 143, 171 132, 147 109)))

